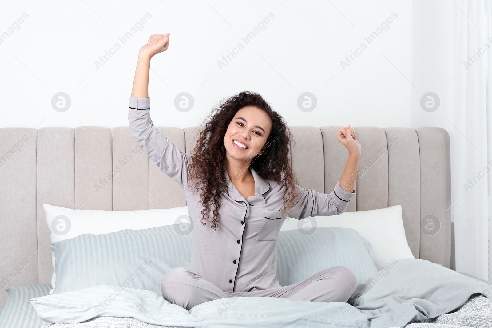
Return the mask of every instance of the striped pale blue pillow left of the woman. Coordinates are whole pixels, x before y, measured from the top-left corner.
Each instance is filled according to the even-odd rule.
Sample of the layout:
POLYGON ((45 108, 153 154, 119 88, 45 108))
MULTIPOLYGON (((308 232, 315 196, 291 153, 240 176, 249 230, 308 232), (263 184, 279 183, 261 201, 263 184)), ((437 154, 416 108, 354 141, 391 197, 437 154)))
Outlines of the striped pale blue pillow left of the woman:
POLYGON ((190 264, 192 237, 180 229, 183 225, 83 234, 53 242, 57 277, 53 294, 118 285, 162 296, 160 281, 164 273, 190 264))

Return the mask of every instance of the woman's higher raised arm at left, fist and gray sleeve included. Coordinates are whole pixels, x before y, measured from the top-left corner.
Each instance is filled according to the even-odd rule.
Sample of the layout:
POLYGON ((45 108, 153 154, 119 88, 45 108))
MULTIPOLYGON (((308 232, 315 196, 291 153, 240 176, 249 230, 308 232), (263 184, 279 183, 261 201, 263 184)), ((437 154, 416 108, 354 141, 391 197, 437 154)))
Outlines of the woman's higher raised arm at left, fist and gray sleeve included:
POLYGON ((149 70, 155 54, 167 50, 169 33, 154 34, 138 54, 137 68, 131 90, 128 126, 137 144, 159 169, 186 190, 186 163, 189 154, 179 149, 153 124, 150 117, 149 70))

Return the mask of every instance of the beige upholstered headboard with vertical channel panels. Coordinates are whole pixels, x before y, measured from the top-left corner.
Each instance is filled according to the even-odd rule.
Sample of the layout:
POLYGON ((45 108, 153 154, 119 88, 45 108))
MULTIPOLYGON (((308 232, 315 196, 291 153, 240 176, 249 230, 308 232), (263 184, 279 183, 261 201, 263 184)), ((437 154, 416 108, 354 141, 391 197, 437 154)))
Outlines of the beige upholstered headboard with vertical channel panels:
MULTIPOLYGON (((347 149, 337 140, 337 129, 290 127, 295 142, 293 165, 300 186, 328 193, 337 183, 348 157, 347 149)), ((354 130, 362 156, 357 195, 347 211, 401 204, 413 255, 450 268, 447 131, 438 127, 370 126, 354 130), (421 228, 427 215, 438 220, 437 234, 421 228)), ((161 127, 160 131, 190 152, 198 129, 161 127)), ((43 203, 105 210, 186 205, 183 190, 149 160, 128 127, 0 128, 0 188, 0 308, 6 287, 51 282, 50 236, 43 203), (29 264, 15 270, 23 259, 29 264)))

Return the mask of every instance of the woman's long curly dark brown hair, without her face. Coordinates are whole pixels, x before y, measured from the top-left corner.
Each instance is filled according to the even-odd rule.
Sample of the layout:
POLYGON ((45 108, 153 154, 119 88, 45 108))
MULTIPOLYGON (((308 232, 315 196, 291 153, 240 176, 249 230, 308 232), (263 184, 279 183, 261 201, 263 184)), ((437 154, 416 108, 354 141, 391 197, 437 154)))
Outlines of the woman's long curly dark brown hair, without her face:
MULTIPOLYGON (((205 123, 200 125, 200 135, 197 145, 190 154, 190 162, 187 163, 189 179, 197 180, 195 184, 196 192, 198 185, 201 184, 201 203, 202 218, 200 221, 205 226, 209 219, 211 206, 214 208, 214 219, 212 226, 215 230, 218 227, 218 209, 221 206, 221 195, 226 191, 225 184, 226 172, 224 163, 227 160, 224 146, 224 137, 229 123, 234 115, 243 107, 254 106, 265 111, 272 120, 272 131, 265 143, 263 154, 256 155, 251 159, 250 166, 263 179, 270 179, 282 183, 285 186, 282 199, 284 213, 291 213, 295 205, 295 184, 297 179, 292 170, 292 136, 283 117, 272 110, 270 105, 258 93, 250 91, 239 92, 229 99, 220 103, 218 108, 214 108, 210 115, 205 119, 205 123), (274 156, 275 154, 275 156, 274 156), (287 194, 291 197, 287 197, 287 194)), ((295 143, 295 142, 294 142, 295 143)), ((189 182, 188 182, 189 183, 189 182)), ((195 192, 194 192, 195 193, 195 192)))

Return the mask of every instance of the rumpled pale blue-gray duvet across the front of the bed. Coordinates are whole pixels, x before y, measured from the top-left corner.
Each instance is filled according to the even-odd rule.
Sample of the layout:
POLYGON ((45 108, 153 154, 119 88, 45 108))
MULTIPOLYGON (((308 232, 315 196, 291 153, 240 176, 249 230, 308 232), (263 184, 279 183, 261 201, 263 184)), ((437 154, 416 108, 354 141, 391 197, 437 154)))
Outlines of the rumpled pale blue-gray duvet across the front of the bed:
POLYGON ((479 295, 488 297, 491 291, 492 283, 486 280, 426 260, 401 259, 359 284, 347 303, 243 297, 217 299, 187 311, 153 292, 119 286, 94 286, 30 301, 41 319, 55 323, 50 328, 461 328, 492 327, 492 303, 479 295), (117 288, 121 293, 102 308, 117 288), (483 326, 466 325, 470 318, 483 326))

